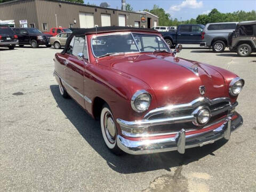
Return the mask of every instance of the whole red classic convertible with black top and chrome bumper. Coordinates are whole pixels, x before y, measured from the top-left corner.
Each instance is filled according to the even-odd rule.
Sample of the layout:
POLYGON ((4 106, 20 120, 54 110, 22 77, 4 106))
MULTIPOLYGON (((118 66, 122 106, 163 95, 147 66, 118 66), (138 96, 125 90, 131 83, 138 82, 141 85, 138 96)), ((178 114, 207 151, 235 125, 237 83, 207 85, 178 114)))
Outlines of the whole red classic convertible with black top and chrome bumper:
POLYGON ((78 29, 56 53, 54 75, 69 96, 100 119, 115 154, 204 146, 243 123, 235 111, 244 80, 225 69, 176 57, 158 31, 78 29))

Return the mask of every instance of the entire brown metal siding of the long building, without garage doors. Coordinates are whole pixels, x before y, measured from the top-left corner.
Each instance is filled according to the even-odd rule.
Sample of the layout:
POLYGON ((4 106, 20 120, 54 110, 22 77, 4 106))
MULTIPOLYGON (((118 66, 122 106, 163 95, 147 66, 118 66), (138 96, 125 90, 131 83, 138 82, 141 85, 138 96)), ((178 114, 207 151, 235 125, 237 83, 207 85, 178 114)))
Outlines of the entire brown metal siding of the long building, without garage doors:
MULTIPOLYGON (((15 26, 19 27, 19 20, 27 19, 28 25, 31 22, 35 23, 36 28, 43 31, 43 23, 47 23, 48 30, 56 27, 55 14, 57 14, 58 26, 69 27, 73 24, 74 28, 80 27, 79 12, 93 13, 94 24, 101 27, 101 13, 111 15, 111 26, 118 26, 118 14, 125 14, 126 26, 133 26, 134 21, 139 21, 140 26, 147 28, 147 22, 142 23, 141 17, 152 18, 151 22, 158 19, 152 15, 141 13, 125 12, 121 10, 110 10, 101 7, 91 7, 79 4, 69 4, 65 2, 54 2, 49 0, 24 0, 22 2, 14 2, 5 5, 0 4, 0 19, 1 20, 15 20, 15 26), (60 6, 61 4, 61 6, 60 6), (95 12, 97 9, 97 12, 95 12), (76 20, 76 23, 74 23, 76 20)), ((151 23, 151 25, 153 25, 151 23)))

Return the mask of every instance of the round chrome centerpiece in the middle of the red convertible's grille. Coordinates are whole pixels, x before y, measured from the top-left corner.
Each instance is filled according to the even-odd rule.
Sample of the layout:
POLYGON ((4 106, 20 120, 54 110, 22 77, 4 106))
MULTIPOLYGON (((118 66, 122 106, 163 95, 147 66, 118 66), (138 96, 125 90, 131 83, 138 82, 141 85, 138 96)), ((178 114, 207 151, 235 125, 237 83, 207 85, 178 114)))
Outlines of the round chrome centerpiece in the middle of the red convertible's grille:
POLYGON ((196 121, 193 122, 195 125, 205 125, 211 118, 211 112, 208 107, 199 107, 194 111, 196 121))

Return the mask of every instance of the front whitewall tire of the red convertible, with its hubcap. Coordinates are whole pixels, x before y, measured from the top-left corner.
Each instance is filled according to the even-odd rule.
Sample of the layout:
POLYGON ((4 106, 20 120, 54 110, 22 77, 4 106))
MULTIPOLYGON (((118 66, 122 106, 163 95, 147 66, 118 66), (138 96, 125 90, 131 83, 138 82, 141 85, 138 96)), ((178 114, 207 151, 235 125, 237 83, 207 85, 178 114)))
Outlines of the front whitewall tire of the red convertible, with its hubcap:
POLYGON ((108 149, 115 155, 123 154, 123 151, 117 146, 117 127, 115 118, 107 103, 105 103, 101 109, 100 126, 102 137, 108 149))

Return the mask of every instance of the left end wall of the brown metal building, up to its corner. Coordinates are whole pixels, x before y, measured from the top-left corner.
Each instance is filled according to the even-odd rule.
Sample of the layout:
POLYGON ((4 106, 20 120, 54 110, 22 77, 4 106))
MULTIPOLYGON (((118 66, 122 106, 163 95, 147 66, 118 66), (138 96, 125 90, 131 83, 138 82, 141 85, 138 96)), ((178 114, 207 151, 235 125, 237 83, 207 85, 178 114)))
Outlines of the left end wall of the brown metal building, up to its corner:
POLYGON ((29 23, 35 23, 38 27, 38 20, 35 9, 35 1, 24 0, 22 2, 10 2, 9 4, 0 4, 0 19, 14 20, 15 27, 20 27, 20 20, 28 20, 29 23))

